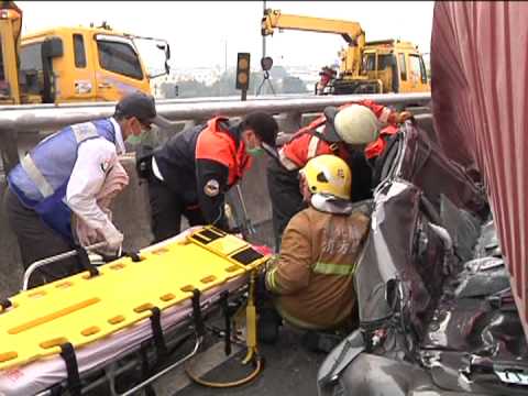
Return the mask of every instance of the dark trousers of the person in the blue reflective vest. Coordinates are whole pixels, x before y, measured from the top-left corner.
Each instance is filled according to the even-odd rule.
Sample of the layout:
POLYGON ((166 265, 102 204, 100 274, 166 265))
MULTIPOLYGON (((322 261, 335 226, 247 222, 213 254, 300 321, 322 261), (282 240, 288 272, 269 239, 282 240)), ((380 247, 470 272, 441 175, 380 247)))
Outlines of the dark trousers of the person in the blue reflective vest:
MULTIPOLYGON (((9 188, 4 196, 4 210, 19 242, 22 264, 26 270, 35 261, 74 249, 69 241, 45 224, 32 209, 22 205, 9 188)), ((80 272, 78 260, 69 257, 40 267, 30 278, 30 287, 61 279, 80 272)))

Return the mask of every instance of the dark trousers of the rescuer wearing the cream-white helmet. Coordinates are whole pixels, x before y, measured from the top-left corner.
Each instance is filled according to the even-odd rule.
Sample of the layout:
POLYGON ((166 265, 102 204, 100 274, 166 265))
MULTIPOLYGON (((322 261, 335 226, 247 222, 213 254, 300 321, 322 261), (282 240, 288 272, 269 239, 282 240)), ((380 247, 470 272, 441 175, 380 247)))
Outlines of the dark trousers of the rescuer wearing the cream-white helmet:
POLYGON ((298 170, 287 170, 277 161, 270 161, 266 170, 267 188, 272 201, 275 250, 278 252, 280 238, 289 219, 298 211, 305 209, 307 205, 302 202, 298 170))

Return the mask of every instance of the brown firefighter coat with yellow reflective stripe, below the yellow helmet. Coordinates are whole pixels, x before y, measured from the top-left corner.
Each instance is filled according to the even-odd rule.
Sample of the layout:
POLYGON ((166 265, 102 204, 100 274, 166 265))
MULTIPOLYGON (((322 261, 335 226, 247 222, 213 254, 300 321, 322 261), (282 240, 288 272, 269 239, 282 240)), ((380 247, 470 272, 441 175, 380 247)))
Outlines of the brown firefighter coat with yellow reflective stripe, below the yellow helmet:
POLYGON ((292 218, 265 277, 283 318, 306 329, 333 329, 350 319, 353 275, 369 221, 359 211, 337 215, 314 206, 292 218))

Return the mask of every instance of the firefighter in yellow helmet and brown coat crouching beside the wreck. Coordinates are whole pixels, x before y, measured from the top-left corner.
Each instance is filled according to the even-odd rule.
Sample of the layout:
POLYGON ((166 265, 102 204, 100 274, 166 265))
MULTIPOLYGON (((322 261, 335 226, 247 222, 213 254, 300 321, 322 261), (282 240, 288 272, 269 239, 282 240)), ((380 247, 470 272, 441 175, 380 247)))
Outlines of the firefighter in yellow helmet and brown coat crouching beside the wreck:
POLYGON ((320 155, 300 170, 308 208, 286 227, 265 287, 282 318, 307 330, 350 322, 355 306, 353 275, 370 219, 353 210, 352 174, 336 155, 320 155))

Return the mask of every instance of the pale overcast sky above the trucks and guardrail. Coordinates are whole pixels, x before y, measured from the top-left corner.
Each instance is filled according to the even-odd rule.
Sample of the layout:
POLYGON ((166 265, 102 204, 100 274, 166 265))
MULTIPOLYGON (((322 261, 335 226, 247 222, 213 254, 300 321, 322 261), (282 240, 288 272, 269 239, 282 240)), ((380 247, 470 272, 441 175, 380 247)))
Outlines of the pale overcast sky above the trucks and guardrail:
MULTIPOLYGON (((107 21, 113 29, 166 38, 174 67, 223 67, 250 52, 252 65, 262 56, 260 31, 263 1, 20 1, 23 32, 54 25, 89 25, 107 21), (226 52, 227 42, 227 52, 226 52)), ((360 22, 366 40, 413 41, 428 53, 432 1, 267 1, 284 13, 360 22)), ((266 38, 276 65, 326 65, 344 45, 334 34, 284 31, 266 38)))

